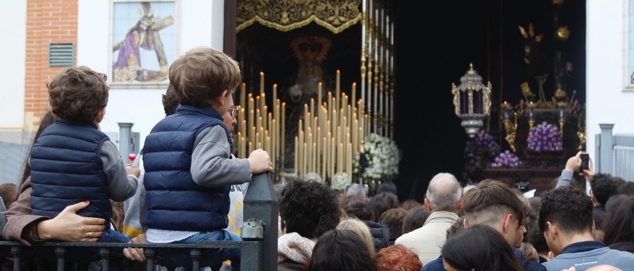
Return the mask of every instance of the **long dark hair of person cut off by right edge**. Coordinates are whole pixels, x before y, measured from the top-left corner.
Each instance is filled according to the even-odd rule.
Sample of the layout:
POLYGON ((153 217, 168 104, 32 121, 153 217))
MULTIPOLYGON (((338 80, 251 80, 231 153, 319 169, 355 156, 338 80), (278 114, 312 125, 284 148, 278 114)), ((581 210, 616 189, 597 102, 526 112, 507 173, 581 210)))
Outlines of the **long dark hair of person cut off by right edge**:
POLYGON ((627 198, 613 211, 604 223, 603 243, 611 244, 634 241, 634 196, 627 198))

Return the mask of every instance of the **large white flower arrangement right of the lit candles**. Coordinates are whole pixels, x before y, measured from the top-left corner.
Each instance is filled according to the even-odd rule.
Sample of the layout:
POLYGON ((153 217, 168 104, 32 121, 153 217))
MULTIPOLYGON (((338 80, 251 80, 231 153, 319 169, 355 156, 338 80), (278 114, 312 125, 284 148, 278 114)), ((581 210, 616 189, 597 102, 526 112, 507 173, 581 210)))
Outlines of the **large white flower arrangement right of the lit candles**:
MULTIPOLYGON (((363 173, 364 178, 389 182, 398 177, 401 155, 396 142, 388 137, 370 134, 370 138, 363 143, 363 148, 368 158, 368 167, 363 173)), ((357 173, 359 155, 355 156, 353 165, 354 172, 357 173)))

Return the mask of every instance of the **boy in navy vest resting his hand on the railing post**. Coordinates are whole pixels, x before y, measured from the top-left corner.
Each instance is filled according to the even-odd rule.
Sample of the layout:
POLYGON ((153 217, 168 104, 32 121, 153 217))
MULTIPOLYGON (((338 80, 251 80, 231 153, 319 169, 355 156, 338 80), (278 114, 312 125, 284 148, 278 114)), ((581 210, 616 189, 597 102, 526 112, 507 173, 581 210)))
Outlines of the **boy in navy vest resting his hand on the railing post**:
MULTIPOLYGON (((238 63, 211 47, 195 47, 172 63, 169 81, 180 105, 155 125, 143 146, 147 241, 240 241, 223 230, 231 185, 273 168, 262 149, 248 159, 231 159, 233 144, 223 115, 234 106, 238 63)), ((188 251, 159 251, 157 256, 168 267, 191 268, 186 255, 188 251)), ((206 249, 201 260, 201 267, 231 260, 232 269, 239 270, 240 249, 206 249)))

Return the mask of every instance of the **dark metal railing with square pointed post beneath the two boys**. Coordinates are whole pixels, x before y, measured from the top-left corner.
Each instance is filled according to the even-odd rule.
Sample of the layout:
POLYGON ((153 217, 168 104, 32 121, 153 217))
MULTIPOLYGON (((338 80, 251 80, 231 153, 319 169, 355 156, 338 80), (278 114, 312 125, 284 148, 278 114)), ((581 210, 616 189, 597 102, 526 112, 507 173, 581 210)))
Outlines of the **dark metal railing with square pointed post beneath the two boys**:
MULTIPOLYGON (((188 249, 193 270, 199 270, 201 257, 205 249, 239 248, 241 249, 242 270, 275 270, 277 266, 277 230, 278 200, 273 190, 273 182, 268 173, 254 175, 244 198, 242 227, 243 241, 200 241, 195 244, 120 244, 120 243, 66 243, 45 242, 26 246, 18 242, 0 242, 0 248, 9 248, 13 256, 13 270, 22 267, 23 260, 29 263, 41 262, 42 249, 53 248, 56 269, 64 270, 68 250, 72 248, 98 249, 101 258, 101 270, 109 270, 113 261, 119 261, 123 270, 131 270, 133 262, 116 248, 143 248, 147 259, 146 270, 154 270, 157 264, 157 252, 163 249, 188 249)), ((169 252, 169 250, 168 250, 169 252)), ((174 270, 175 267, 167 267, 174 270)), ((38 268, 38 270, 41 270, 38 268)))

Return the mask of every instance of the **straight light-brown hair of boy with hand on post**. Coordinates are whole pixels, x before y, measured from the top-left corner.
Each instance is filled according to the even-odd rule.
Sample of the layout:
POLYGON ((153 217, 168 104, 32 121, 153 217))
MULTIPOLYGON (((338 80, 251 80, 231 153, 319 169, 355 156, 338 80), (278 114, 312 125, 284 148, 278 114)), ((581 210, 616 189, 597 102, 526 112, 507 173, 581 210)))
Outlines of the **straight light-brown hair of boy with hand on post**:
POLYGON ((233 93, 241 81, 238 62, 212 47, 194 47, 169 70, 179 104, 209 106, 223 91, 233 93))

